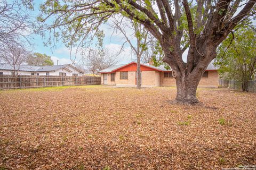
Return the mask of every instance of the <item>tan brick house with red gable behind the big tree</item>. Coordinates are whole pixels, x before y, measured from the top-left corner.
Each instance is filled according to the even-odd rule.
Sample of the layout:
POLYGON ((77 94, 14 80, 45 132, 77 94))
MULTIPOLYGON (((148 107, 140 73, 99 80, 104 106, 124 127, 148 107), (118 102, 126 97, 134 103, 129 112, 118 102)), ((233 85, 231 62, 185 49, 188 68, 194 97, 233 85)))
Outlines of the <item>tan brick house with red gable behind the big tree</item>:
MULTIPOLYGON (((172 71, 163 66, 155 67, 151 64, 141 64, 141 86, 176 86, 172 71)), ((113 65, 101 70, 101 84, 117 86, 135 86, 137 63, 113 65)), ((219 75, 212 63, 205 70, 198 87, 218 88, 219 75)))

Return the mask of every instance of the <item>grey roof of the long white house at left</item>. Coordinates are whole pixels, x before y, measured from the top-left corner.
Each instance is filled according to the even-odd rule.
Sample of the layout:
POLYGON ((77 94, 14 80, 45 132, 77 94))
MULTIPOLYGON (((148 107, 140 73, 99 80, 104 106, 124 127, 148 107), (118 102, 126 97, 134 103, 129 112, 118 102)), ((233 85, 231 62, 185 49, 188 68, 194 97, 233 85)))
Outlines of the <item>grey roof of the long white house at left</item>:
MULTIPOLYGON (((55 71, 59 69, 66 69, 69 72, 67 66, 73 67, 74 69, 78 70, 79 72, 84 73, 83 71, 77 69, 73 65, 70 64, 63 64, 63 65, 46 65, 46 66, 32 66, 32 65, 20 65, 19 71, 33 71, 33 72, 43 72, 43 71, 55 71)), ((14 70, 13 66, 10 64, 0 64, 0 70, 14 70)))

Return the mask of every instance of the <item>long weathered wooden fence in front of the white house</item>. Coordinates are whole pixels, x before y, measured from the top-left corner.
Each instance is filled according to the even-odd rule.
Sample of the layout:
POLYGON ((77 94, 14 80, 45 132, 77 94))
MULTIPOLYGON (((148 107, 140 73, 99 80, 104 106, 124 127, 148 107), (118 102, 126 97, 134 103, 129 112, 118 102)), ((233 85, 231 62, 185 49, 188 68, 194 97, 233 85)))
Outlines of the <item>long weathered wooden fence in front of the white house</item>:
POLYGON ((100 77, 94 76, 36 76, 36 75, 0 75, 0 89, 22 89, 53 86, 79 86, 100 84, 100 77))

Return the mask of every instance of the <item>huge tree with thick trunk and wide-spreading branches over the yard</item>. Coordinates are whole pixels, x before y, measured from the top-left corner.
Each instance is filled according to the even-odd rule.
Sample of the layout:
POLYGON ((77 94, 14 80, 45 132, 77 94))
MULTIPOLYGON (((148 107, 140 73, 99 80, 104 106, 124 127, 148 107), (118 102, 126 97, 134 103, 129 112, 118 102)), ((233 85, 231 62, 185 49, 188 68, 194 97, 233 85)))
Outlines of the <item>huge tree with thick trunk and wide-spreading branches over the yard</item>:
POLYGON ((42 30, 54 30, 54 36, 69 39, 69 45, 75 41, 85 44, 99 25, 117 13, 143 24, 159 41, 163 61, 172 68, 177 84, 174 103, 195 104, 198 83, 217 56, 217 47, 239 22, 254 14, 255 3, 256 0, 46 1, 38 20, 43 24, 42 30), (46 20, 54 22, 47 24, 46 20), (182 54, 187 48, 187 62, 183 62, 182 54))

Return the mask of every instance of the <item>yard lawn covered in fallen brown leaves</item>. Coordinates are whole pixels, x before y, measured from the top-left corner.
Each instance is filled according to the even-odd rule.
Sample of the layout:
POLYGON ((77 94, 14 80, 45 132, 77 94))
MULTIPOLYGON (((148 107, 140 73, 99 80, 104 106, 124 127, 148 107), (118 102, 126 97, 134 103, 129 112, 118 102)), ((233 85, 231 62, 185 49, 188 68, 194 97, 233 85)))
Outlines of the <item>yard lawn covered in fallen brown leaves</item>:
POLYGON ((221 169, 256 165, 256 94, 102 86, 0 91, 0 169, 221 169))

